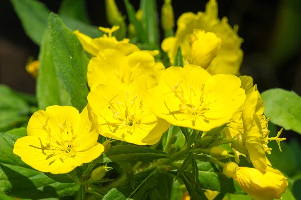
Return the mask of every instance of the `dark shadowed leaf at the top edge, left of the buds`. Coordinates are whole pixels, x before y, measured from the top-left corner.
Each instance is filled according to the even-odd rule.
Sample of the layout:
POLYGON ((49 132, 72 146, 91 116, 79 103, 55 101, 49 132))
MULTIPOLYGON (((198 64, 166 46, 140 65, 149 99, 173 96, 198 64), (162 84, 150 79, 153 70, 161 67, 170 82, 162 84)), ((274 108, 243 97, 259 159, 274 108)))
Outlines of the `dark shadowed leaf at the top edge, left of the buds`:
POLYGON ((90 23, 84 0, 63 0, 59 10, 59 15, 68 16, 87 24, 90 23))

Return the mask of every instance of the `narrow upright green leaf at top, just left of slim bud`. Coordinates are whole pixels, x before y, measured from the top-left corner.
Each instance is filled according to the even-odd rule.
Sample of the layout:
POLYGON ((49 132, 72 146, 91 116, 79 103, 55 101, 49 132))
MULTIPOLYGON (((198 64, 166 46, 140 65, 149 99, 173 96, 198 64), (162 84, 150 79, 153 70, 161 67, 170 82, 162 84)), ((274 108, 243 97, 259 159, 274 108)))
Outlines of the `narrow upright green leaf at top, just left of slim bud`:
POLYGON ((158 14, 155 0, 142 0, 142 27, 150 45, 158 45, 158 14))

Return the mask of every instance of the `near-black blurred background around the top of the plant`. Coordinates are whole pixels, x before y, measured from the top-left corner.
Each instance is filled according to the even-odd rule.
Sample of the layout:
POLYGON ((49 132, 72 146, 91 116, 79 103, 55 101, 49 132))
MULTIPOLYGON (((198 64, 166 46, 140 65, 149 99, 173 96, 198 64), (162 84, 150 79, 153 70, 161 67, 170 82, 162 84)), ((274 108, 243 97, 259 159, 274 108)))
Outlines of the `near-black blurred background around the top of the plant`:
MULTIPOLYGON (((24 33, 11 2, 0 2, 0 83, 34 94, 35 80, 25 65, 28 57, 37 59, 39 47, 24 33)), ((58 12, 61 4, 60 0, 41 2, 53 12, 58 12)), ((139 0, 130 2, 139 8, 139 0)), ((175 19, 184 12, 204 11, 206 2, 173 0, 175 19)), ((244 39, 241 73, 252 76, 261 92, 279 87, 301 95, 301 0, 217 2, 219 17, 227 16, 231 26, 238 24, 239 36, 244 39)), ((126 15, 123 1, 116 3, 126 15)), ((157 1, 159 13, 162 4, 163 0, 157 1)), ((109 27, 104 0, 87 0, 86 8, 93 25, 109 27)))

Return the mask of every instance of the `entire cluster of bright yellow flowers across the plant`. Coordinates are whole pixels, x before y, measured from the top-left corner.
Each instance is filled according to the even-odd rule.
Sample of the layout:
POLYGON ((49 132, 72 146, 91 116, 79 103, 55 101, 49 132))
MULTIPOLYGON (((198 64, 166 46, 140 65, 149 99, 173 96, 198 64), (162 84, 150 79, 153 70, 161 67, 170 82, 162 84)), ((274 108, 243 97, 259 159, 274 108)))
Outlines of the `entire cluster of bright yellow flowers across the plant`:
MULTIPOLYGON (((169 3, 166 15, 171 14, 169 3)), ((104 34, 99 38, 74 31, 91 57, 88 104, 81 113, 56 105, 35 112, 28 136, 16 141, 14 153, 42 172, 68 173, 105 151, 97 142, 99 134, 153 145, 170 125, 179 126, 195 134, 187 141, 194 154, 207 154, 208 161, 222 166, 223 173, 252 198, 280 199, 288 182, 265 153, 271 153, 269 141, 275 140, 281 149, 285 138, 279 138, 282 130, 269 137, 257 86, 249 76, 236 76, 243 56, 237 27, 232 29, 226 18, 218 19, 215 0, 208 2, 205 12, 184 13, 177 25, 175 36, 164 39, 161 47, 172 65, 177 65, 174 57, 180 47, 183 67, 165 68, 155 59, 158 50, 141 50, 127 38, 118 41, 113 33, 119 26, 100 27, 104 34), (228 151, 219 147, 222 141, 230 143, 237 164, 242 155, 254 168, 218 161, 229 158, 228 151)), ((167 20, 165 27, 173 25, 167 20)))

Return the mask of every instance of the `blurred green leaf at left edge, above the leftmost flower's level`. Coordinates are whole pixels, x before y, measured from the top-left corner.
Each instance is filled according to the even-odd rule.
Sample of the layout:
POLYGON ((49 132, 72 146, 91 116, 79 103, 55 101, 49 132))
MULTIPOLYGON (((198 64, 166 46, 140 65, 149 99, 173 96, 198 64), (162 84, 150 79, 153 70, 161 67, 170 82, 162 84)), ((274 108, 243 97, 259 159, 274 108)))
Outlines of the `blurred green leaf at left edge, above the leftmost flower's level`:
POLYGON ((0 131, 7 131, 27 123, 28 104, 6 85, 0 85, 0 131))

